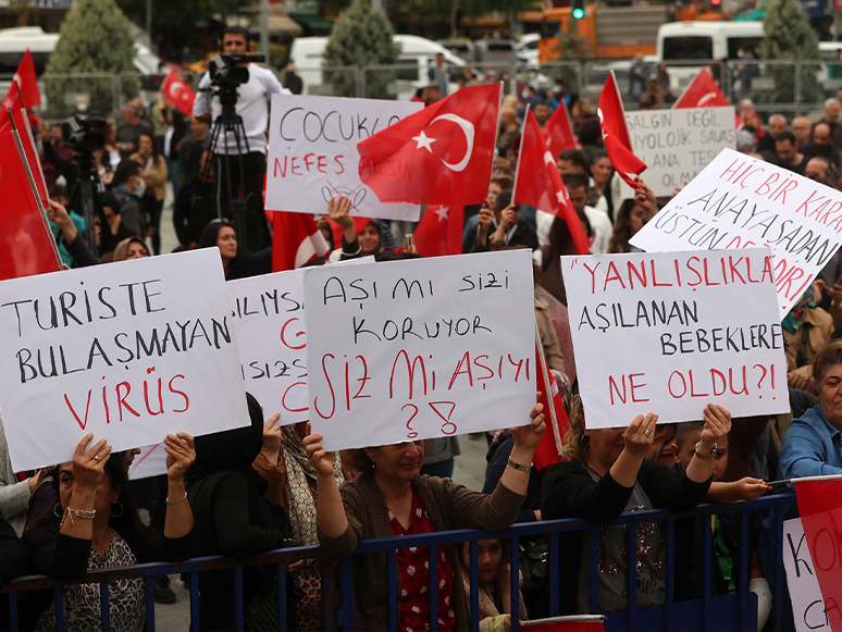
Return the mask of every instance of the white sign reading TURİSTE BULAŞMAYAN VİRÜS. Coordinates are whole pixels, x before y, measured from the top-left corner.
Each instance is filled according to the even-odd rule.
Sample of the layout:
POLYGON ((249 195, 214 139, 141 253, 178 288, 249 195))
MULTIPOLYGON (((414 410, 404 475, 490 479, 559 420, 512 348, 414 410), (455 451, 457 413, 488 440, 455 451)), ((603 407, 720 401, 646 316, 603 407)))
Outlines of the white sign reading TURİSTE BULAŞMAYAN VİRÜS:
POLYGON ((219 251, 0 283, 0 401, 16 471, 247 425, 219 251))

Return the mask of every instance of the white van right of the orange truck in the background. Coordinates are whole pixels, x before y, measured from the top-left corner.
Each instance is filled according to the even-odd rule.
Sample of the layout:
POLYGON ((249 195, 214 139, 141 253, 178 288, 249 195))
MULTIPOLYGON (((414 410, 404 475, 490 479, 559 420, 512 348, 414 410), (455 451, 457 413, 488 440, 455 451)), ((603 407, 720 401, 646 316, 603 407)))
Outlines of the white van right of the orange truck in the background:
POLYGON ((670 22, 658 27, 657 61, 667 64, 678 94, 710 61, 739 59, 741 48, 757 57, 763 38, 763 22, 670 22), (698 65, 686 63, 694 60, 698 65))

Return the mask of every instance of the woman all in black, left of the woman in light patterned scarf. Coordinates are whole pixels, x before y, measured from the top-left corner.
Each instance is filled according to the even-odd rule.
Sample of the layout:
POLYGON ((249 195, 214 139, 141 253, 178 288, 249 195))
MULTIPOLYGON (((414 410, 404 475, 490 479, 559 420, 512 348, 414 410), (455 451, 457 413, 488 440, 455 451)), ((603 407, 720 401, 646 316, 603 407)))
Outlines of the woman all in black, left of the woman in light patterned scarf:
MULTIPOLYGON (((196 438, 196 463, 187 473, 188 496, 196 516, 194 557, 247 557, 284 545, 286 511, 263 497, 269 482, 252 467, 263 447, 264 425, 274 425, 280 416, 264 424, 257 399, 246 397, 249 425, 196 438)), ((274 569, 243 569, 247 618, 262 611, 260 605, 269 600, 274 581, 274 569)), ((199 621, 193 621, 196 629, 234 630, 233 586, 233 570, 199 573, 199 621)), ((276 607, 275 593, 275 614, 276 607)))

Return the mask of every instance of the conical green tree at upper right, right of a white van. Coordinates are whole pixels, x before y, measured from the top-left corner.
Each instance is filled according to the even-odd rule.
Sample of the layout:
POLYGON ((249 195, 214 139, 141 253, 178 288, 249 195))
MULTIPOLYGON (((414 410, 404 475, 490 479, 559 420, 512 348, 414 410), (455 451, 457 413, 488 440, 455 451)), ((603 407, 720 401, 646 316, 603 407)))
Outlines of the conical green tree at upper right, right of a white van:
MULTIPOLYGON (((761 59, 797 62, 820 59, 816 32, 798 0, 773 0, 764 18, 764 30, 766 37, 758 48, 761 59)), ((748 66, 745 69, 741 74, 751 80, 748 66)), ((813 103, 821 97, 817 78, 819 69, 818 64, 768 64, 764 74, 775 82, 775 100, 792 103, 795 101, 795 73, 800 72, 801 101, 813 103)))

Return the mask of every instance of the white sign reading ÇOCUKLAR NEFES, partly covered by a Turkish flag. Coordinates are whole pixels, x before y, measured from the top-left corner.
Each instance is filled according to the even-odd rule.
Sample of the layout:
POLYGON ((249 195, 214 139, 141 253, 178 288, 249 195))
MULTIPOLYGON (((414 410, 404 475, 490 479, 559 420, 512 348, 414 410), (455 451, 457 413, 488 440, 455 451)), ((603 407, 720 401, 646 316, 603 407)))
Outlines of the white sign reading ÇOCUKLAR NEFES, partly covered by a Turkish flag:
POLYGON ((417 222, 418 205, 383 203, 360 181, 357 144, 418 112, 422 103, 274 95, 269 129, 267 210, 327 213, 334 196, 350 214, 417 222))

